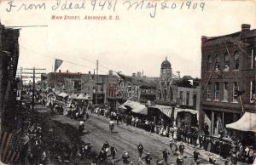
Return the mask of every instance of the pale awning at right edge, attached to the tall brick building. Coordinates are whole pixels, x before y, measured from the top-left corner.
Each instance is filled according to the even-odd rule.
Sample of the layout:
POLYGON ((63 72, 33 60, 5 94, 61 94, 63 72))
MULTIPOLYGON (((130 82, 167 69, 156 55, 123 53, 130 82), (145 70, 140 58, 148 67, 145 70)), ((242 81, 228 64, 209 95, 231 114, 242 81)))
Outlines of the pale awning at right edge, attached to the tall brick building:
POLYGON ((226 124, 226 128, 256 133, 256 113, 245 112, 238 121, 226 124))

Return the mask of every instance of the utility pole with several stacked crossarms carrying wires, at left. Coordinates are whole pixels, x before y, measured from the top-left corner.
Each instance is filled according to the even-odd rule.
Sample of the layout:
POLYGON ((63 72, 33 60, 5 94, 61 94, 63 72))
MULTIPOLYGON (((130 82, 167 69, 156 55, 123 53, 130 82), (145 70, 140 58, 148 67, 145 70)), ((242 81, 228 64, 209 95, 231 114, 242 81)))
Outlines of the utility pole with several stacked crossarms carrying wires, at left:
POLYGON ((32 111, 34 111, 35 107, 35 79, 41 79, 41 77, 36 77, 36 75, 44 74, 45 72, 37 72, 37 71, 46 71, 45 68, 20 68, 20 77, 23 78, 32 78, 32 111), (32 72, 31 72, 32 71, 32 72), (32 76, 23 76, 23 75, 32 75, 32 76))

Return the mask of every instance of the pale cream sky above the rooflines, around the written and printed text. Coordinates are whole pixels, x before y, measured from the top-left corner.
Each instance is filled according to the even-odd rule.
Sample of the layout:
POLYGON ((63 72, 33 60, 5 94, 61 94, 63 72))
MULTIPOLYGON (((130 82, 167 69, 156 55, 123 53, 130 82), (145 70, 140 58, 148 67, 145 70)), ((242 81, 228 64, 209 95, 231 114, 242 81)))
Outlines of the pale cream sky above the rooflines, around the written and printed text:
MULTIPOLYGON (((42 1, 46 10, 7 13, 8 2, 0 4, 0 19, 5 26, 48 26, 21 28, 19 67, 37 66, 48 71, 52 71, 55 58, 86 65, 63 62, 61 71, 93 71, 96 64, 84 60, 88 59, 99 60, 99 73, 108 71, 101 66, 105 65, 127 75, 144 71, 146 76, 159 77, 160 64, 167 57, 174 72, 200 77, 201 36, 240 31, 242 23, 251 24, 251 29, 256 27, 255 1, 194 1, 192 4, 205 2, 204 11, 158 9, 154 19, 149 16, 152 9, 127 11, 124 1, 117 3, 115 13, 106 9, 92 12, 90 6, 84 10, 52 11, 49 7, 55 4, 53 0, 42 1), (81 20, 50 20, 52 14, 79 15, 81 20), (85 15, 109 14, 119 15, 120 20, 83 20, 85 15)), ((17 6, 24 2, 15 0, 17 6)), ((26 0, 32 2, 36 1, 26 0)))

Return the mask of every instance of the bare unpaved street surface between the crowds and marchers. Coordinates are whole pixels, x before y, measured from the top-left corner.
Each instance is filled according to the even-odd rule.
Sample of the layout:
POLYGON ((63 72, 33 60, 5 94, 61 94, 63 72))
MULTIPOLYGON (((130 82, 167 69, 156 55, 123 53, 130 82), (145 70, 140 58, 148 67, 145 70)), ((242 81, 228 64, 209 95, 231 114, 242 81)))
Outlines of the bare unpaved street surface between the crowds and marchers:
MULTIPOLYGON (((63 124, 62 128, 67 127, 67 125, 68 127, 72 127, 69 129, 77 129, 79 127, 79 122, 70 119, 69 117, 59 115, 52 119, 55 122, 63 124)), ((96 151, 96 153, 101 150, 102 145, 106 140, 108 140, 109 145, 114 144, 118 151, 115 159, 116 164, 122 164, 120 158, 124 151, 128 151, 132 162, 137 162, 137 145, 139 143, 142 143, 144 146, 143 156, 145 156, 147 152, 151 153, 151 156, 153 157, 151 164, 155 164, 157 160, 162 160, 162 150, 165 148, 171 152, 169 148, 169 139, 166 137, 160 137, 158 134, 150 134, 140 128, 126 126, 125 123, 120 123, 119 126, 115 123, 114 133, 111 134, 108 130, 108 122, 109 119, 105 117, 96 116, 94 114, 90 115, 89 120, 84 124, 85 130, 81 139, 86 143, 89 142, 92 144, 93 151, 96 151)), ((193 149, 191 146, 185 147, 184 155, 187 156, 187 158, 184 158, 183 164, 190 165, 193 162, 193 149)), ((176 164, 176 158, 177 156, 172 156, 171 152, 168 162, 176 164)), ((108 162, 110 162, 110 157, 108 158, 108 162)), ((207 164, 207 156, 201 156, 200 162, 201 164, 207 164)), ((219 164, 224 163, 220 162, 219 164)))

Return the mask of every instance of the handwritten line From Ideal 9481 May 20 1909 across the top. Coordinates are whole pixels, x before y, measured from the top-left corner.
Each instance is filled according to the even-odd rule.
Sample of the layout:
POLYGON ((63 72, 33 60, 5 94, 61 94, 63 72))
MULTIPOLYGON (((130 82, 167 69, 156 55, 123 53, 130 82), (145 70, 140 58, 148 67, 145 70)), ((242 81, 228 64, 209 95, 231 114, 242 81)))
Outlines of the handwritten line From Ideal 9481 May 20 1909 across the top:
POLYGON ((171 1, 148 1, 148 0, 80 0, 80 1, 71 1, 71 0, 55 0, 55 3, 17 3, 18 0, 8 0, 6 5, 6 12, 19 12, 19 11, 34 11, 34 10, 109 10, 116 12, 117 8, 124 8, 126 11, 131 10, 148 10, 151 18, 154 18, 158 11, 171 11, 174 9, 180 10, 195 10, 195 11, 204 11, 205 2, 203 1, 180 1, 180 2, 171 2, 171 1))

